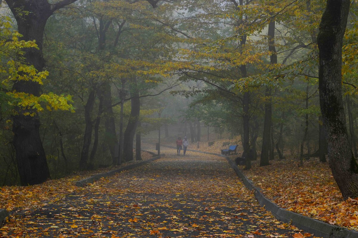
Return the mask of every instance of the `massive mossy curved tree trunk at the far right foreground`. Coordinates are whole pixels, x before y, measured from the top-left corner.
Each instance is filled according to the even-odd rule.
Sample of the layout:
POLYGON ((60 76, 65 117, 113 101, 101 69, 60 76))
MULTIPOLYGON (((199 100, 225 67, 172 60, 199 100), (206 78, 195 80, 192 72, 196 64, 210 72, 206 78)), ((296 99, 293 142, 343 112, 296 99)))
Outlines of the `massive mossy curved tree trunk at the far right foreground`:
POLYGON ((349 0, 328 0, 317 37, 319 99, 329 166, 344 199, 358 197, 358 164, 349 145, 342 99, 342 44, 349 0))

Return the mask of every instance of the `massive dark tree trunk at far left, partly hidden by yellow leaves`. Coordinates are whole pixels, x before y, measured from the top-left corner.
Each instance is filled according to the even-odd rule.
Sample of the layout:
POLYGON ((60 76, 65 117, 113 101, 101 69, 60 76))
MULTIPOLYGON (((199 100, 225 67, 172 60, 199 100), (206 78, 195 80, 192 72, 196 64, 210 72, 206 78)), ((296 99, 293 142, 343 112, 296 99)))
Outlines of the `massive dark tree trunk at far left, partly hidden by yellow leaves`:
MULTIPOLYGON (((21 40, 36 40, 39 49, 25 48, 25 62, 33 65, 39 72, 45 60, 42 54, 43 34, 47 19, 52 14, 51 5, 45 0, 12 1, 6 0, 18 24, 21 40), (21 9, 21 10, 20 10, 21 9), (23 11, 28 14, 23 14, 23 11)), ((13 91, 40 96, 40 84, 33 81, 16 81, 13 91)), ((34 109, 17 108, 13 116, 14 147, 21 185, 39 184, 50 178, 45 151, 42 146, 38 112, 34 109), (25 116, 24 113, 35 116, 25 116)))

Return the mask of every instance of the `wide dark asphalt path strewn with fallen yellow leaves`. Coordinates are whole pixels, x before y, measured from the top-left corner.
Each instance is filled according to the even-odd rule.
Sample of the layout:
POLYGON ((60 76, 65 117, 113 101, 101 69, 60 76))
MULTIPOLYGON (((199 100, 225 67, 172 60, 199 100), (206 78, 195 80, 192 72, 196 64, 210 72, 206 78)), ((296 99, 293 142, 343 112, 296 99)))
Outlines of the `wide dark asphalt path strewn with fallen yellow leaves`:
POLYGON ((224 158, 162 151, 164 158, 17 214, 0 237, 303 237, 261 208, 224 158))

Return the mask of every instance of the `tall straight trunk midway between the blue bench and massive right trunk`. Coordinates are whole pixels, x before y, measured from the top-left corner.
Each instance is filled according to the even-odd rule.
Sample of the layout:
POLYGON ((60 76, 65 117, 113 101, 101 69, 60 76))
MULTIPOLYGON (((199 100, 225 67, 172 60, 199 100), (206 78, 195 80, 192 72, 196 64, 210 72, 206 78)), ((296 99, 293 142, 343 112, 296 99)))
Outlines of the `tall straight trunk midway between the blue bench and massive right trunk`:
MULTIPOLYGON (((269 40, 269 50, 271 52, 270 63, 277 64, 277 55, 276 55, 276 48, 275 48, 275 19, 272 19, 269 23, 267 37, 269 40)), ((271 89, 269 88, 269 86, 266 86, 265 97, 271 98, 271 89)), ((270 164, 269 163, 269 150, 270 150, 270 144, 271 144, 270 143, 271 125, 272 125, 272 104, 271 104, 271 99, 269 99, 265 103, 265 121, 263 123, 260 166, 266 166, 266 165, 270 164)))

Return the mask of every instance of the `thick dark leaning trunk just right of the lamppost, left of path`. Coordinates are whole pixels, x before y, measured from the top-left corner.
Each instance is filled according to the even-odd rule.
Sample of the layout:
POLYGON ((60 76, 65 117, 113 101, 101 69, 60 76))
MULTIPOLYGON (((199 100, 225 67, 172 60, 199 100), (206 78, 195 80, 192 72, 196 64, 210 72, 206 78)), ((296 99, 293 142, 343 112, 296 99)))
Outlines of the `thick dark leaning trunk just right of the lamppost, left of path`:
POLYGON ((133 140, 135 131, 138 125, 139 112, 140 112, 140 99, 139 93, 135 92, 131 94, 131 114, 129 121, 124 132, 124 143, 123 143, 123 158, 125 161, 133 160, 133 140))

